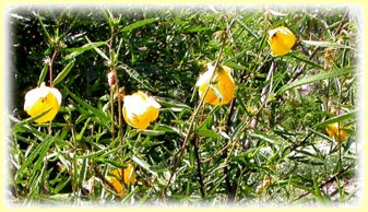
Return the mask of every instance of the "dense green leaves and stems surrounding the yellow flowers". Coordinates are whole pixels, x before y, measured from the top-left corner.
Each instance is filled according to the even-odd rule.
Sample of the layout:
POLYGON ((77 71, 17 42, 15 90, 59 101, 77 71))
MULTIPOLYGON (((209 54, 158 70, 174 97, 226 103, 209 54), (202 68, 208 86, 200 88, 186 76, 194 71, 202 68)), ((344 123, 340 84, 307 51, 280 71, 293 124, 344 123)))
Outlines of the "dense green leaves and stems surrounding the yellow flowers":
POLYGON ((12 8, 9 201, 356 203, 356 19, 346 7, 12 8), (273 57, 268 31, 281 25, 297 44, 273 57), (62 93, 51 131, 23 110, 50 59, 62 93), (235 98, 199 105, 195 81, 216 60, 234 70, 235 98), (147 130, 119 127, 117 102, 111 114, 111 68, 126 94, 162 105, 147 130), (336 121, 342 142, 325 132, 336 121), (136 181, 119 196, 104 176, 127 164, 136 181))

